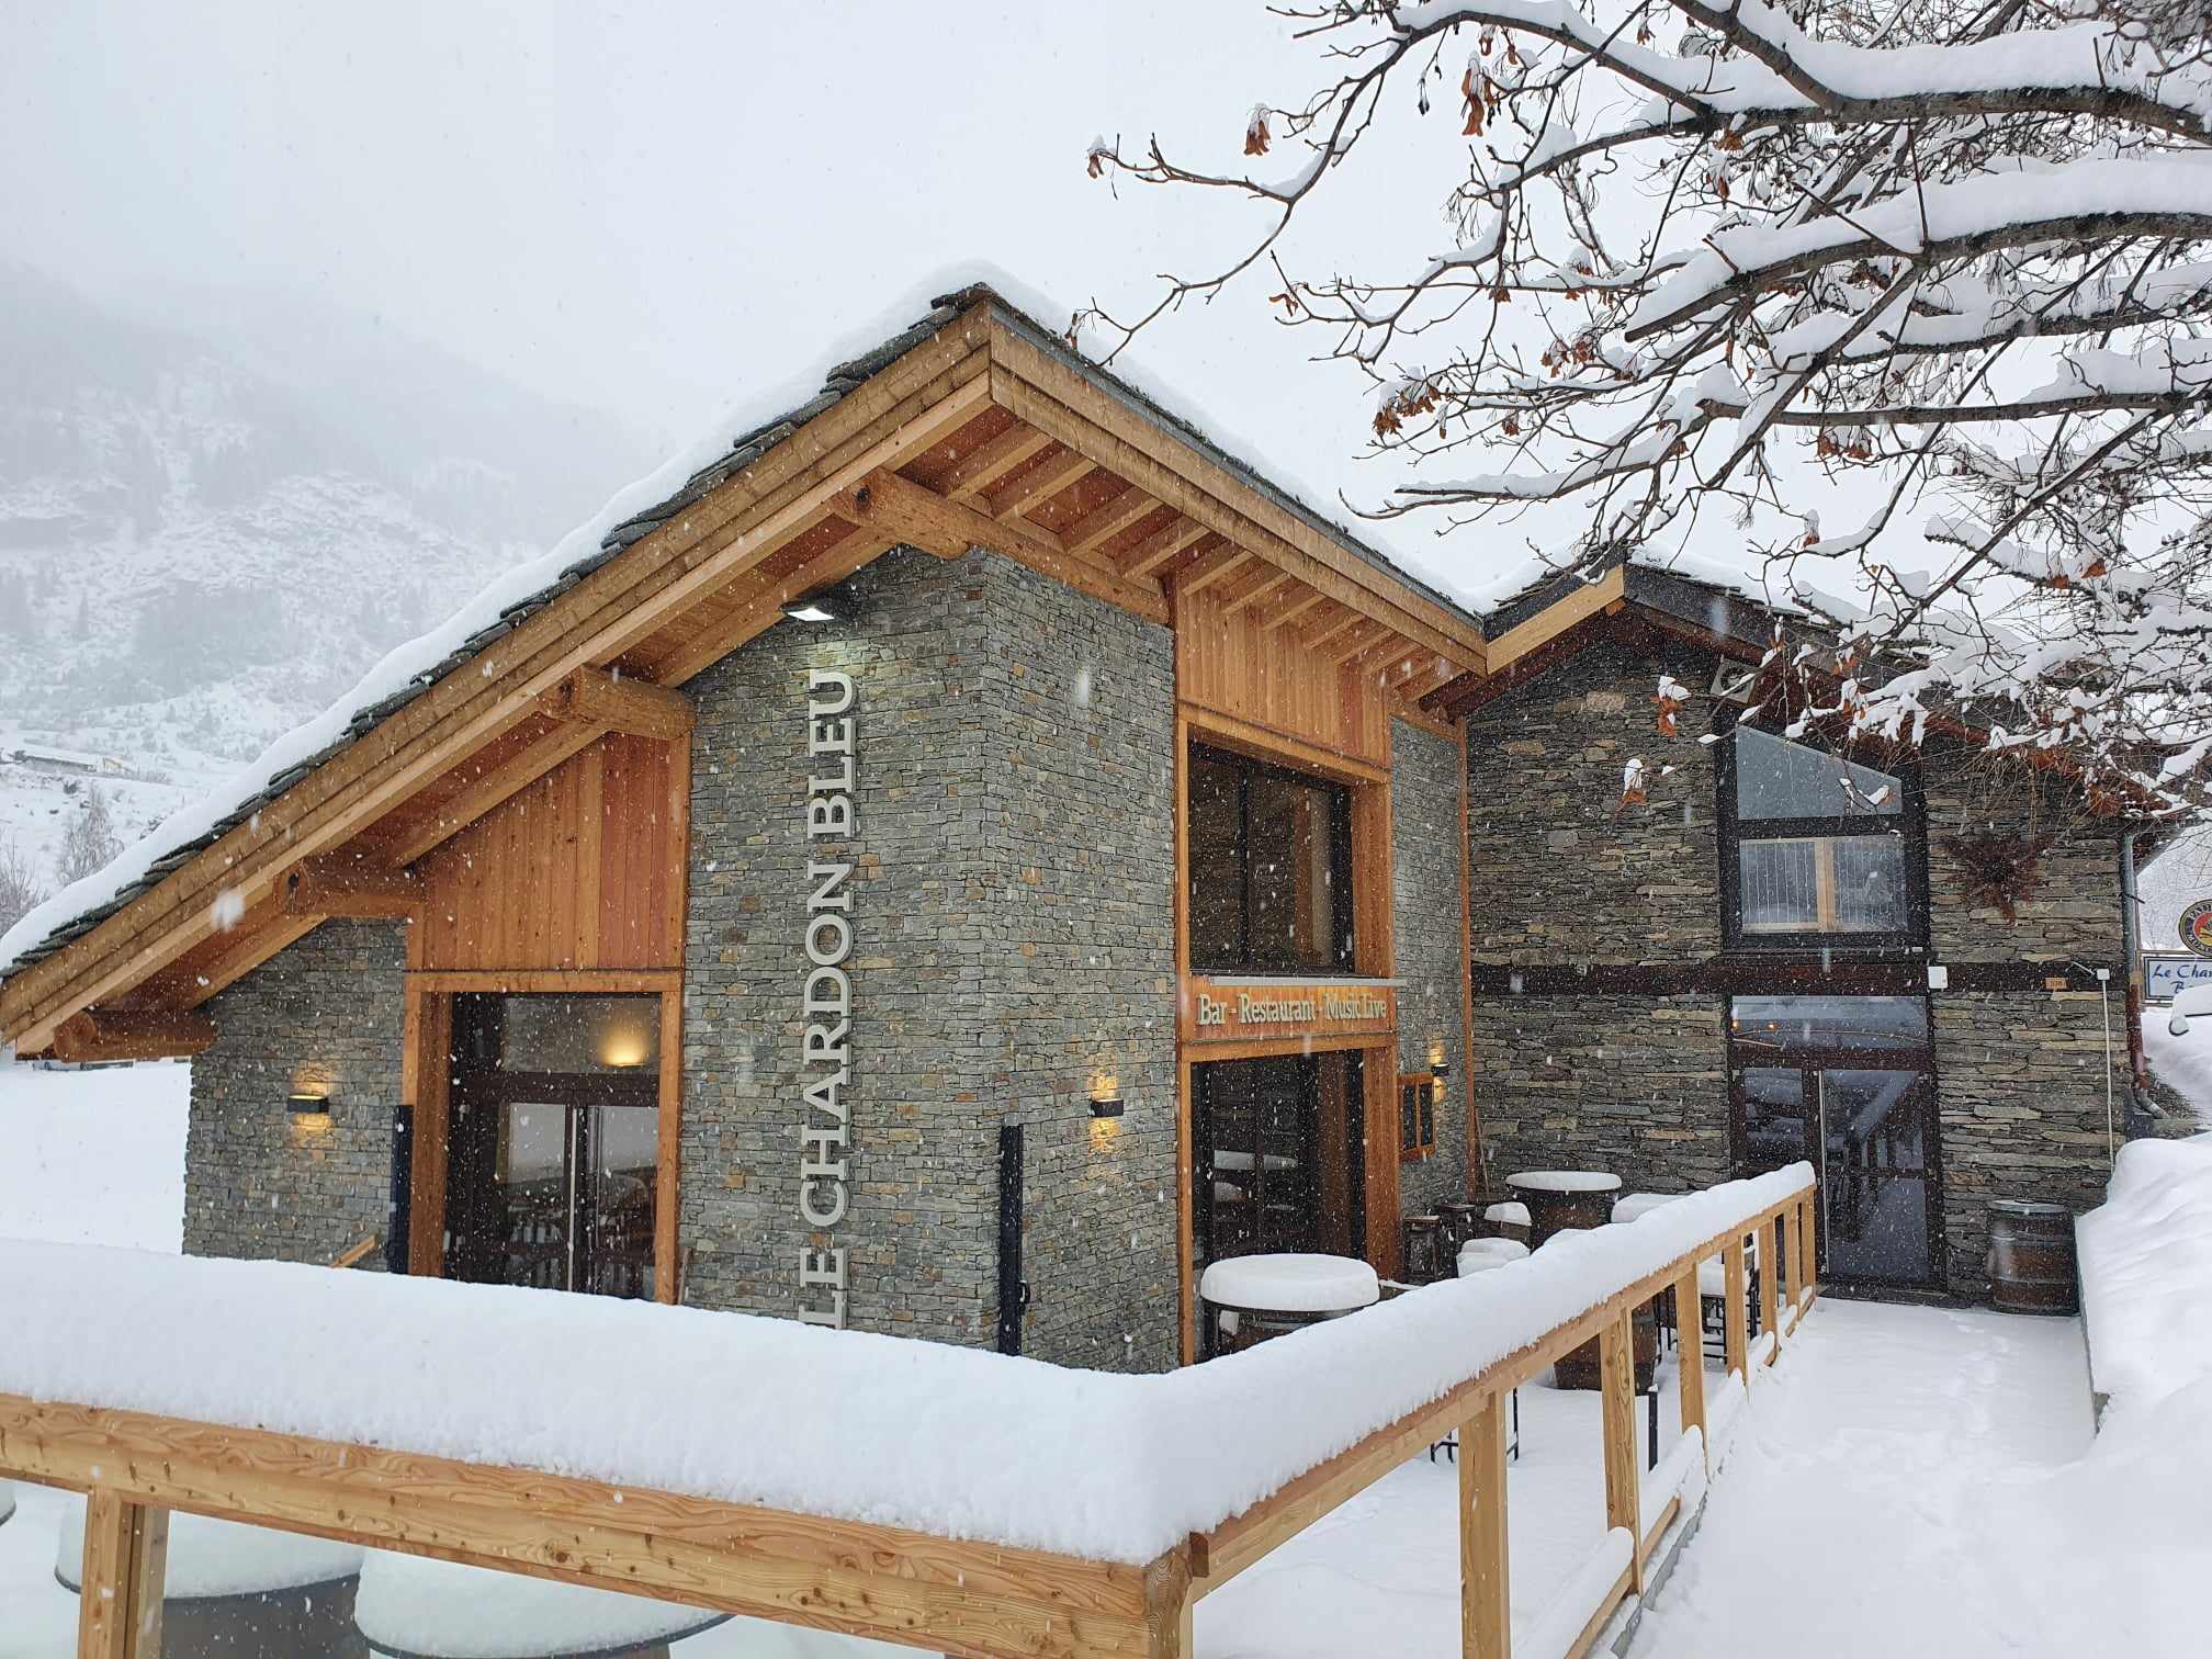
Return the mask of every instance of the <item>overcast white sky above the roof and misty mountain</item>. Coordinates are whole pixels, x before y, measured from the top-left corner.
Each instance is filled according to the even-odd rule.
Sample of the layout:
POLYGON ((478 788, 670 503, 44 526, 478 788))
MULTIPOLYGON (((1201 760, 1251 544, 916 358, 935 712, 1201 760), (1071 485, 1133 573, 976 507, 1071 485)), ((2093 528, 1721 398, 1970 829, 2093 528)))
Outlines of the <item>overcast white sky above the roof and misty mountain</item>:
MULTIPOLYGON (((1013 272, 1051 323, 1141 301, 1223 246, 1225 204, 1117 199, 1084 177, 1091 137, 1234 155, 1245 111, 1312 73, 1259 0, 4 4, 0 254, 139 307, 319 292, 666 447, 818 374, 931 276, 1013 272)), ((1332 228, 1442 248, 1455 144, 1436 157, 1338 190, 1332 228)), ((1371 500, 1383 476, 1349 462, 1369 396, 1312 345, 1256 285, 1139 367, 1228 447, 1371 500)), ((1425 526, 1374 535, 1440 557, 1425 526)), ((1486 586, 1478 549, 1449 557, 1486 586)))

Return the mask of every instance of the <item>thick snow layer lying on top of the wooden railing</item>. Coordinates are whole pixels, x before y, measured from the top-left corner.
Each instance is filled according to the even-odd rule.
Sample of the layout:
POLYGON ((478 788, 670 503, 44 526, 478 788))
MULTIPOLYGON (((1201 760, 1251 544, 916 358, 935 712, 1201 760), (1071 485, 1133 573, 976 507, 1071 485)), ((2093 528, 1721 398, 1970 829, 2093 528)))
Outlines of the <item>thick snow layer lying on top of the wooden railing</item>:
POLYGON ((1730 1181, 1166 1376, 564 1292, 0 1241, 15 1332, 0 1394, 1141 1564, 1809 1186, 1805 1164, 1730 1181), (438 1376, 500 1389, 427 1389, 438 1376))

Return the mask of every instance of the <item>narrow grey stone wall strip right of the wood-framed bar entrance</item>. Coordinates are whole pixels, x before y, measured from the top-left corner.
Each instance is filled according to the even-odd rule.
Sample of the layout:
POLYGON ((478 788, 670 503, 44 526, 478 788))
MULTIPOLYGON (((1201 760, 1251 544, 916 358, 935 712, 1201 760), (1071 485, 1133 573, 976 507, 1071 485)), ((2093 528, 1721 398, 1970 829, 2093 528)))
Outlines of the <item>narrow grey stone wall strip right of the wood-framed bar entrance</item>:
POLYGON ((1467 1194, 1467 951, 1460 922, 1460 745, 1391 721, 1391 931, 1398 978, 1398 1068, 1429 1071, 1442 1048, 1436 1155, 1398 1166, 1400 1214, 1467 1194))

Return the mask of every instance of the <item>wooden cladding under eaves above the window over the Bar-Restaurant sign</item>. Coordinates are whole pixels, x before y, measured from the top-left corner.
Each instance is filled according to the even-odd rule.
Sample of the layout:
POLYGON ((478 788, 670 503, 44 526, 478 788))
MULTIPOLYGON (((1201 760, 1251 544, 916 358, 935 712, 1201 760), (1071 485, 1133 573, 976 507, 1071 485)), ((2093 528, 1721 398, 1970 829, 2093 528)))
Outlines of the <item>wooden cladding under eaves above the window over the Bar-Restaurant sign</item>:
POLYGON ((1177 690, 1186 703, 1389 765, 1389 708, 1371 675, 1343 672, 1292 628, 1230 613, 1212 588, 1177 593, 1177 690))

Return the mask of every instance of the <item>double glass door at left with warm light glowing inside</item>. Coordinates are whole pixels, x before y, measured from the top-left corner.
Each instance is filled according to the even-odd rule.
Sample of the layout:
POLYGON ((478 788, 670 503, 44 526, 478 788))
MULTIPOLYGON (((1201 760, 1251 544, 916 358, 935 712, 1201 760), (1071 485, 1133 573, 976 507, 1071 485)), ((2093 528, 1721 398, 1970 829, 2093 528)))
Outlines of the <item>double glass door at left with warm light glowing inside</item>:
POLYGON ((447 1272, 653 1294, 659 998, 453 1000, 447 1272))

